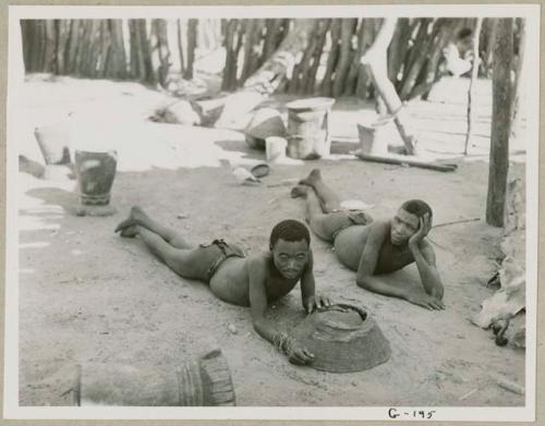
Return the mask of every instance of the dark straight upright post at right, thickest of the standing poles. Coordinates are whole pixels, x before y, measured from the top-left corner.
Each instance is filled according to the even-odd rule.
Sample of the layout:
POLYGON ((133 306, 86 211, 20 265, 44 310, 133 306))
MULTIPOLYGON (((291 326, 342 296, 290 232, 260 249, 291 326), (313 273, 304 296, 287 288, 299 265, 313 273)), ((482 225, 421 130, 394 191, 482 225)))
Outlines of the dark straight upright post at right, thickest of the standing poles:
POLYGON ((512 19, 499 19, 493 59, 493 111, 486 222, 504 226, 511 125, 512 19))

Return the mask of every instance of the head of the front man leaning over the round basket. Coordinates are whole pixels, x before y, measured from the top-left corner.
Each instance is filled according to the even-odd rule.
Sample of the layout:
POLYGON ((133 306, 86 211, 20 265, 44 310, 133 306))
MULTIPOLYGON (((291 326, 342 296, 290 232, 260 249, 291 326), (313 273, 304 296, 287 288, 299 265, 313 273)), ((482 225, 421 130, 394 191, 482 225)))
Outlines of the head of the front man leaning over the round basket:
POLYGON ((311 248, 311 234, 301 222, 282 220, 270 233, 269 242, 272 260, 278 271, 288 279, 301 276, 311 248))

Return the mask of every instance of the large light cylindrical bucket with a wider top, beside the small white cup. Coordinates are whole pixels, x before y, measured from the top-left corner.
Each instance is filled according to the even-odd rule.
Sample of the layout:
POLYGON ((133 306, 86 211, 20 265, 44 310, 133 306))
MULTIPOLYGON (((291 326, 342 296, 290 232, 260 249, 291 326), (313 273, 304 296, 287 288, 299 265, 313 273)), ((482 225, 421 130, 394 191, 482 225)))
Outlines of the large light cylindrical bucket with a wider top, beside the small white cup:
POLYGON ((329 115, 334 104, 332 98, 307 98, 287 104, 289 157, 314 159, 329 155, 329 115))

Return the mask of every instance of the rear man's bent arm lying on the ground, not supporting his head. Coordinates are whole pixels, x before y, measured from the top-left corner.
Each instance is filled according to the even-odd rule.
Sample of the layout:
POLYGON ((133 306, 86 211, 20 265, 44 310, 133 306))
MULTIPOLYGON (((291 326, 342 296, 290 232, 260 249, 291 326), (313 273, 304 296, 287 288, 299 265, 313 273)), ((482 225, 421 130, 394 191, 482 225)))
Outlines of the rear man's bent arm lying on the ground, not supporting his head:
POLYGON ((407 290, 390 285, 374 276, 378 263, 378 254, 384 239, 387 238, 387 226, 375 222, 371 226, 365 247, 363 248, 360 266, 358 267, 356 283, 359 287, 387 296, 407 299, 407 290))

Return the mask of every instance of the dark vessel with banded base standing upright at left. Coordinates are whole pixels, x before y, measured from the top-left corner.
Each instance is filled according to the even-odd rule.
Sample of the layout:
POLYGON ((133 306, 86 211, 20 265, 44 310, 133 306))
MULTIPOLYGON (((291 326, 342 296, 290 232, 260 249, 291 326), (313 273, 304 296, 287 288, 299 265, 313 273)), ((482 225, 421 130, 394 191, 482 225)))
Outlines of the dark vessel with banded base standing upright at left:
POLYGON ((86 206, 106 206, 116 178, 118 153, 76 150, 74 172, 80 186, 80 200, 86 206))

